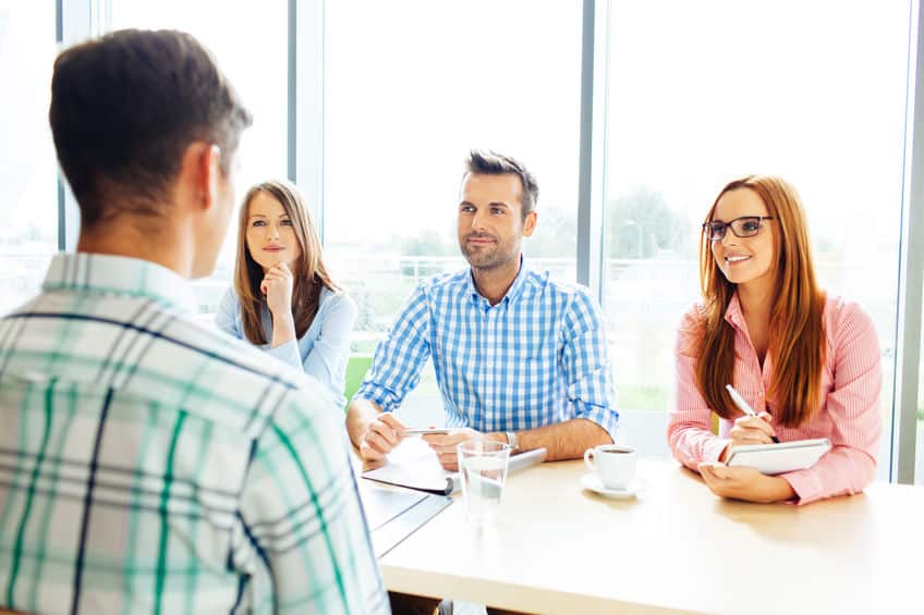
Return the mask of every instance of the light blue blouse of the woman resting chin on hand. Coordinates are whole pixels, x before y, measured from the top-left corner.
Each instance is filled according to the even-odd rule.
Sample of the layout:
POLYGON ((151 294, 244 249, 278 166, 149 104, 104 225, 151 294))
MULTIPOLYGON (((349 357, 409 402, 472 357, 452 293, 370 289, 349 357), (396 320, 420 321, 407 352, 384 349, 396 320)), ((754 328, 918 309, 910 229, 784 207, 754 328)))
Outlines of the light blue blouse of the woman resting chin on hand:
MULTIPOLYGON (((343 386, 350 358, 350 333, 355 320, 356 304, 353 299, 346 293, 335 293, 325 287, 320 291, 320 305, 315 319, 301 339, 290 340, 276 348, 270 344, 259 348, 316 378, 342 408, 346 405, 343 386)), ((215 324, 226 333, 247 341, 241 321, 241 304, 233 287, 228 288, 221 298, 215 324)), ((266 307, 263 311, 263 330, 267 340, 271 340, 272 317, 266 307)))

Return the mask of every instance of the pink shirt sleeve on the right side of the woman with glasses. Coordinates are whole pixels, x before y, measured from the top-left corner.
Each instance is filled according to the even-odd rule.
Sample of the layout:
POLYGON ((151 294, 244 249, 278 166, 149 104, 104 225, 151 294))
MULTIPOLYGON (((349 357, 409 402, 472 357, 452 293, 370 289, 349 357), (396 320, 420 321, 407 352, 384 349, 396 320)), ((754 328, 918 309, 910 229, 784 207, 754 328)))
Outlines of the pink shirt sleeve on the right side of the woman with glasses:
POLYGON ((811 468, 782 475, 799 504, 859 493, 876 477, 883 431, 883 368, 876 331, 855 304, 846 304, 827 327, 834 383, 820 411, 830 416, 831 450, 811 468))

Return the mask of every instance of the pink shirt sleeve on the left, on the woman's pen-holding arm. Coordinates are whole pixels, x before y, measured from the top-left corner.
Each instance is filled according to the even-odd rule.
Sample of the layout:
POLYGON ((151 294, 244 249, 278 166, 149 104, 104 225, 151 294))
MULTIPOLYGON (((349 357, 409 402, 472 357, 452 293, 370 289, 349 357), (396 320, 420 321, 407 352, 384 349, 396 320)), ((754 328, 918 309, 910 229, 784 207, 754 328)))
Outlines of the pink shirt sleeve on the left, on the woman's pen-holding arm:
POLYGON ((674 458, 692 470, 701 462, 717 462, 731 442, 713 433, 713 410, 696 383, 696 324, 698 309, 689 311, 677 334, 674 359, 677 403, 669 410, 667 438, 674 458))

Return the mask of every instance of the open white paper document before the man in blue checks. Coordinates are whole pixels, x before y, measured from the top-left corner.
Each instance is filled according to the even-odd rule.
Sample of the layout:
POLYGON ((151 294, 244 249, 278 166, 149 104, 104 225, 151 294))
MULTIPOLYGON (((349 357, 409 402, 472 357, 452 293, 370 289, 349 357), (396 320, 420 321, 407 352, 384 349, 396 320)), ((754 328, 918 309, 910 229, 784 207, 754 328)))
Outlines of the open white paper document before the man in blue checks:
MULTIPOLYGON (((510 457, 508 472, 542 463, 545 458, 545 448, 514 455, 510 457)), ((420 438, 405 438, 388 454, 384 466, 367 470, 362 476, 368 480, 440 495, 449 495, 462 485, 459 472, 442 469, 436 453, 420 438)))

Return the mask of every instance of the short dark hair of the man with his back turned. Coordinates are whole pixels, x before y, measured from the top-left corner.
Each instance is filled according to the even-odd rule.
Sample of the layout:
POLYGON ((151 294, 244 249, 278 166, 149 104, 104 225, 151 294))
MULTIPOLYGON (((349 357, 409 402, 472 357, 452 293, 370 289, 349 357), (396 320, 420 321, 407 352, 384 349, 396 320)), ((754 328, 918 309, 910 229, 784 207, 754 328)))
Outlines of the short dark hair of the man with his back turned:
POLYGON ((252 123, 208 51, 175 30, 118 30, 64 50, 48 115, 84 226, 162 214, 190 144, 217 145, 227 174, 252 123))

